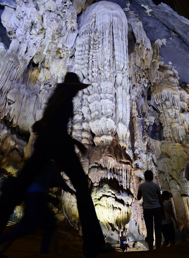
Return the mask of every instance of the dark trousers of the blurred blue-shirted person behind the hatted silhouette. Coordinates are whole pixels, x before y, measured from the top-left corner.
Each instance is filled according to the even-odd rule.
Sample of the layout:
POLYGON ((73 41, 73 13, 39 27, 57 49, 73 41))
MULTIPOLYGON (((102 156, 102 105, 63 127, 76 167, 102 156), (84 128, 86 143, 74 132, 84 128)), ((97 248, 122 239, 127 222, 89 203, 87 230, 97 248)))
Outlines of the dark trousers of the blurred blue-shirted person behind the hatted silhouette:
POLYGON ((37 226, 43 229, 40 253, 46 254, 49 251, 52 235, 56 228, 56 220, 48 207, 47 194, 28 193, 22 220, 9 232, 0 236, 0 243, 13 241, 26 234, 31 234, 37 226))

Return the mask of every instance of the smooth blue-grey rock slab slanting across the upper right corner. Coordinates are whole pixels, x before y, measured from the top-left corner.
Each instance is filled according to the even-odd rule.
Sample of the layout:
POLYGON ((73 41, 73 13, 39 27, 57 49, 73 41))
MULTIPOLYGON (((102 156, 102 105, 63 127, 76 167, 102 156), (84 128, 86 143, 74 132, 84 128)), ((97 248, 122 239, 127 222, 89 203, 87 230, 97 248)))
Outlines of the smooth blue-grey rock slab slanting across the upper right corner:
MULTIPOLYGON (((161 6, 162 5, 163 4, 161 4, 161 6)), ((172 24, 176 24, 176 18, 180 22, 182 22, 182 19, 184 19, 184 21, 186 20, 187 23, 185 23, 185 27, 187 32, 184 33, 184 35, 186 35, 189 31, 188 20, 182 16, 179 16, 174 11, 170 11, 169 6, 166 6, 169 10, 169 15, 164 14, 164 16, 162 16, 162 19, 164 19, 164 22, 162 23, 162 21, 158 19, 160 17, 157 16, 160 13, 162 15, 162 8, 159 6, 160 5, 156 6, 151 0, 133 0, 129 8, 130 10, 135 11, 135 13, 139 16, 139 19, 142 21, 144 30, 151 42, 155 42, 156 40, 165 40, 160 49, 160 56, 162 57, 162 61, 165 64, 169 64, 169 62, 171 62, 172 66, 174 66, 179 73, 180 80, 185 83, 189 83, 187 75, 187 71, 189 69, 189 46, 187 42, 183 41, 181 38, 180 28, 178 31, 175 27, 170 30, 169 28, 172 28, 172 26, 167 25, 168 19, 172 19, 172 24), (144 6, 150 5, 146 8, 154 10, 150 11, 149 14, 151 16, 146 14, 146 8, 142 7, 141 4, 144 6)))

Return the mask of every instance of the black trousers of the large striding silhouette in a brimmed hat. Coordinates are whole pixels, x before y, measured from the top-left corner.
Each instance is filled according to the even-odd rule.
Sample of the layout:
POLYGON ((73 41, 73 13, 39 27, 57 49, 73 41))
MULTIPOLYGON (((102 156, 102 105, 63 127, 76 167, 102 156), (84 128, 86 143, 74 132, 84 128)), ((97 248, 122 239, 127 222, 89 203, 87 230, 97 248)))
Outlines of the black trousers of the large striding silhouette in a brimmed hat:
MULTIPOLYGON (((94 247, 94 245, 104 245, 104 236, 97 219, 92 198, 89 194, 87 177, 84 174, 79 159, 74 152, 74 145, 72 141, 67 139, 66 136, 64 137, 64 135, 61 135, 61 132, 51 132, 51 134, 43 134, 38 136, 33 155, 27 161, 17 177, 17 186, 14 188, 14 190, 17 189, 18 191, 18 197, 16 197, 16 199, 22 199, 20 196, 25 193, 30 183, 35 179, 35 176, 41 169, 43 169, 45 164, 47 164, 50 159, 55 160, 61 170, 63 170, 66 175, 69 176, 71 183, 77 192, 77 206, 85 248, 89 247, 90 249, 91 246, 94 247), (92 242, 91 232, 89 230, 90 225, 92 225, 93 228, 92 242)), ((11 198, 7 199, 6 196, 5 198, 5 203, 8 203, 11 200, 11 198)), ((2 211, 6 213, 4 208, 1 206, 1 201, 2 200, 0 200, 0 207, 2 211)), ((13 211, 15 203, 16 200, 13 201, 10 210, 13 211)), ((4 217, 6 217, 6 222, 9 219, 9 215, 10 212, 4 215, 4 217)), ((1 225, 1 229, 3 227, 4 225, 1 225)))

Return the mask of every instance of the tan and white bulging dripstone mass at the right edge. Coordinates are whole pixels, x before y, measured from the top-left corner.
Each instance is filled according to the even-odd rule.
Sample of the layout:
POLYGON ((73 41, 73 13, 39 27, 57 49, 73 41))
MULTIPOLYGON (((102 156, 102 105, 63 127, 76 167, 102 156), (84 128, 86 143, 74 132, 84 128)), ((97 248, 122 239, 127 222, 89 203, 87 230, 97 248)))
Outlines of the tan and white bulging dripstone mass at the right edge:
POLYGON ((165 140, 181 143, 188 132, 189 95, 178 85, 171 67, 164 66, 164 79, 152 88, 152 105, 160 113, 165 140))

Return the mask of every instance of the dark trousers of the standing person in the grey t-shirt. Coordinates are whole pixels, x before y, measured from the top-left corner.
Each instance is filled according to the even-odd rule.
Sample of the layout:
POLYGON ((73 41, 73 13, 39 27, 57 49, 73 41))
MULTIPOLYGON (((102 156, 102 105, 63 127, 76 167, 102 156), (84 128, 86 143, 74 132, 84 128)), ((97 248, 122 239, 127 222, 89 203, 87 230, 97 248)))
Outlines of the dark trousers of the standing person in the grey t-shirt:
POLYGON ((146 224, 148 241, 154 241, 154 231, 156 238, 162 238, 162 207, 143 209, 143 214, 146 224))

